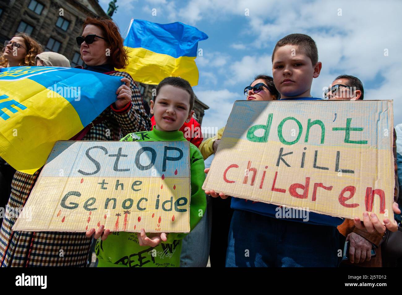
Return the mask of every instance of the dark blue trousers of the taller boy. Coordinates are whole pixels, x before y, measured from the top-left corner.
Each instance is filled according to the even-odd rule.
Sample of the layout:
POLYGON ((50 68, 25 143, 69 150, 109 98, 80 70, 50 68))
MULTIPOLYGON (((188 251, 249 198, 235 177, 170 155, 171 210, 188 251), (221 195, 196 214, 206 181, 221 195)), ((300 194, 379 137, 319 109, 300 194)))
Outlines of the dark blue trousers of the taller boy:
POLYGON ((336 267, 339 232, 234 210, 226 267, 336 267))

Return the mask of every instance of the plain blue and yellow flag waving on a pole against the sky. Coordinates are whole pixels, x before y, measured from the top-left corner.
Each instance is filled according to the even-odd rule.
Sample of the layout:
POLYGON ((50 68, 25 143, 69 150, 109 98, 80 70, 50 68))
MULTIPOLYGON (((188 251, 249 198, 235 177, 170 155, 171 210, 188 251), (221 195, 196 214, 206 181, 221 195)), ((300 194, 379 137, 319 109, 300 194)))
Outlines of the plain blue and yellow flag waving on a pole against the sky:
POLYGON ((165 77, 174 76, 195 86, 198 84, 195 64, 198 41, 207 38, 205 33, 182 22, 157 24, 132 19, 124 40, 129 65, 119 71, 146 84, 158 84, 165 77))

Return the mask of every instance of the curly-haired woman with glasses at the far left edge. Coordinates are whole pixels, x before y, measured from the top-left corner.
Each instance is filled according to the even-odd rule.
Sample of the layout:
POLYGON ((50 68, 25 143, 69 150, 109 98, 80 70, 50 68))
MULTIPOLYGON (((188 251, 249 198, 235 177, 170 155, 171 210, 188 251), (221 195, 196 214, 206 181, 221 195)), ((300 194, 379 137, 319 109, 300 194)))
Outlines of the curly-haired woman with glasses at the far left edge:
POLYGON ((1 67, 34 66, 35 56, 42 52, 41 45, 25 33, 17 33, 11 40, 4 41, 0 54, 1 67))

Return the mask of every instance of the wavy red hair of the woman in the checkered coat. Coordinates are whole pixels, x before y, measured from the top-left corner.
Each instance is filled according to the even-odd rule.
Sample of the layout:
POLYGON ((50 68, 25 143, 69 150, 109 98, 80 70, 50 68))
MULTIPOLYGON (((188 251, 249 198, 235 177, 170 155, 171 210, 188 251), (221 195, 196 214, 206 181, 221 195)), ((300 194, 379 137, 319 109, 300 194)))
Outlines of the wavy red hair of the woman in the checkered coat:
POLYGON ((123 46, 123 38, 121 38, 119 27, 110 18, 101 17, 93 18, 88 16, 82 28, 88 24, 99 27, 104 33, 110 48, 109 63, 117 69, 123 69, 128 65, 127 51, 123 46))

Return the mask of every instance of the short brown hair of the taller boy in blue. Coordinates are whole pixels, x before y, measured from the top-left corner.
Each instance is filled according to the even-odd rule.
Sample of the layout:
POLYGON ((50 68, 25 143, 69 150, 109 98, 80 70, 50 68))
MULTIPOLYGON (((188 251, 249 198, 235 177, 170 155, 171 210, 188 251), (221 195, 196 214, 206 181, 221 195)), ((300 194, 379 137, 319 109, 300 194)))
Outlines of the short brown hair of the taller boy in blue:
POLYGON ((275 51, 277 51, 279 47, 285 45, 299 46, 300 49, 303 50, 308 57, 310 57, 313 66, 318 62, 318 50, 316 42, 310 36, 305 34, 290 34, 279 40, 272 53, 272 62, 274 61, 275 51))

